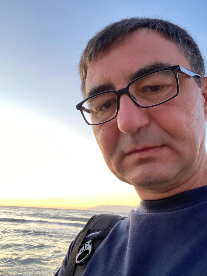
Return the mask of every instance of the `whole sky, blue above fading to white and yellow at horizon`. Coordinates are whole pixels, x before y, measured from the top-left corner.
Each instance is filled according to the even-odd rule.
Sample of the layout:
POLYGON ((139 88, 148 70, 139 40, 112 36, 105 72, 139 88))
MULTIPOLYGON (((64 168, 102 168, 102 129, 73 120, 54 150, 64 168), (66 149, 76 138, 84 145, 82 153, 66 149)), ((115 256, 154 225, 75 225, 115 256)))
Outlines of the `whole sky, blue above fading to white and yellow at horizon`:
POLYGON ((0 0, 0 205, 138 205, 105 164, 75 105, 87 41, 132 16, 170 20, 207 58, 206 1, 0 0))

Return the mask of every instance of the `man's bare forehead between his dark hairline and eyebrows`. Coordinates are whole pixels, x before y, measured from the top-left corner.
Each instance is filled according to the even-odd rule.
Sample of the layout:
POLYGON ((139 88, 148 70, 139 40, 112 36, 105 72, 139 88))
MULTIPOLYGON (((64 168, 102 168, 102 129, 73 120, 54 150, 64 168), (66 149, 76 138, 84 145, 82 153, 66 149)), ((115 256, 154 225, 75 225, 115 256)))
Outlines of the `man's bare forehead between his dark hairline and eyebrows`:
POLYGON ((130 75, 155 62, 179 64, 191 69, 179 46, 159 32, 141 29, 128 35, 121 43, 114 43, 108 52, 99 54, 90 62, 85 83, 86 96, 91 88, 105 83, 116 90, 125 87, 130 75))

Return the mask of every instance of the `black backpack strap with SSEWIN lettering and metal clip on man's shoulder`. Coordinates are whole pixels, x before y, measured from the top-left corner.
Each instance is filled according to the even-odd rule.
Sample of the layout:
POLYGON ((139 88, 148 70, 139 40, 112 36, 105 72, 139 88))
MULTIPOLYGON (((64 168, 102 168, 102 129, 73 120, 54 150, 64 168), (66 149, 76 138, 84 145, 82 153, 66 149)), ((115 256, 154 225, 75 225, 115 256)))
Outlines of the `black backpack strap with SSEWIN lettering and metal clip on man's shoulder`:
POLYGON ((92 216, 84 226, 74 245, 63 276, 81 276, 100 243, 108 235, 113 226, 124 218, 118 215, 106 214, 92 216), (86 258, 85 260, 84 257, 86 258))

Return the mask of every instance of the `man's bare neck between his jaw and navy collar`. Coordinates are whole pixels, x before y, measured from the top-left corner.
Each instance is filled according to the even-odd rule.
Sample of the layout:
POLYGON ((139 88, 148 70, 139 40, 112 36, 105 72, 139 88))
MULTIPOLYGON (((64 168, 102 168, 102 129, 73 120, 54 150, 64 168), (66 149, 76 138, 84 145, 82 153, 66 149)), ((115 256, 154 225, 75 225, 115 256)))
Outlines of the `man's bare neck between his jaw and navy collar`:
POLYGON ((179 193, 196 189, 198 187, 202 187, 207 185, 207 154, 204 151, 202 155, 202 159, 197 170, 189 177, 185 182, 178 183, 173 188, 168 189, 167 191, 152 191, 142 189, 140 187, 135 186, 135 190, 137 191, 141 200, 157 200, 166 197, 171 197, 173 195, 177 195, 179 193))

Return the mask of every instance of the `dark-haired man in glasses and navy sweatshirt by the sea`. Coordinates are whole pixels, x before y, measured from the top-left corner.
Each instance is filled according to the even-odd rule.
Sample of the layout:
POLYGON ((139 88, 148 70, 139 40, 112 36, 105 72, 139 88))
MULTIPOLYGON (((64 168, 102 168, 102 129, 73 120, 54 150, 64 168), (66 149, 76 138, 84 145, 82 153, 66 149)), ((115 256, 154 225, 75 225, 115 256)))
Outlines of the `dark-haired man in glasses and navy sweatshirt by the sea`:
POLYGON ((141 198, 84 275, 207 275, 207 78, 195 41, 164 20, 124 19, 89 41, 80 75, 77 108, 141 198))

